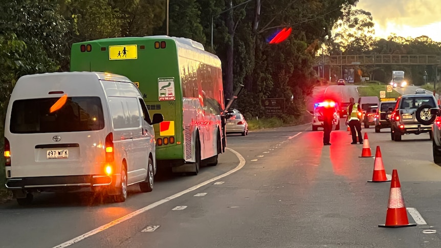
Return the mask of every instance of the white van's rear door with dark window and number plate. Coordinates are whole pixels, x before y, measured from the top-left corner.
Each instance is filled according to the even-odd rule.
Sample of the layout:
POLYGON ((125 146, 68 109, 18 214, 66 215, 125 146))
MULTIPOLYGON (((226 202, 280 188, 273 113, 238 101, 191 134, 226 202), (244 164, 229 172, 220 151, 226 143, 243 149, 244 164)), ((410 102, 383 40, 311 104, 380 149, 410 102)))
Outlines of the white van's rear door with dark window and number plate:
POLYGON ((8 133, 11 176, 102 174, 103 128, 100 97, 15 100, 8 133))

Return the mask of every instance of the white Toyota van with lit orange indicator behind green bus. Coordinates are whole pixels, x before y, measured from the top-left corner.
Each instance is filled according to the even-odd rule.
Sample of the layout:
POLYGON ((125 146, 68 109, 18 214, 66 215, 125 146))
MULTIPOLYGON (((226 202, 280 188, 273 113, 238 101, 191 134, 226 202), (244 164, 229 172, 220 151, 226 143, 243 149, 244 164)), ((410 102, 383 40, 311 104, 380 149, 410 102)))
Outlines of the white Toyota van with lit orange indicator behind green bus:
POLYGON ((21 77, 5 123, 6 187, 18 204, 40 191, 91 189, 125 201, 127 186, 153 189, 155 132, 128 78, 62 72, 21 77))

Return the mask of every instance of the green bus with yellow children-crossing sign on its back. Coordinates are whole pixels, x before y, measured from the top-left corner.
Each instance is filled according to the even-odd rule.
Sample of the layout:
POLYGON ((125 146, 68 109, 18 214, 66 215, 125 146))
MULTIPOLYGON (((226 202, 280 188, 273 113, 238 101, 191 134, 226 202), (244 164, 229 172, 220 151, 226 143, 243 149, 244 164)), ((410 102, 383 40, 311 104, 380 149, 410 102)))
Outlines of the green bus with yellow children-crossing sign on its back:
POLYGON ((226 135, 219 58, 188 38, 105 38, 72 44, 71 71, 126 76, 139 88, 155 124, 158 166, 196 175, 201 163, 216 165, 226 135))

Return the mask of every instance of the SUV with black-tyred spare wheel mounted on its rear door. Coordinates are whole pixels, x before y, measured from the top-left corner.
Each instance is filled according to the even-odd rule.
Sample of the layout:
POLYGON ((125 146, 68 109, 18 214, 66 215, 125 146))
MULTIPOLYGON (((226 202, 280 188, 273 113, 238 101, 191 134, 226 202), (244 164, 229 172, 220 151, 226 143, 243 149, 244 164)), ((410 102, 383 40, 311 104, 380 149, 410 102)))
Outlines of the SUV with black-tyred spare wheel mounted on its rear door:
POLYGON ((403 95, 398 98, 390 117, 390 138, 401 141, 403 134, 428 132, 432 139, 432 124, 436 115, 432 108, 437 108, 436 99, 430 94, 403 95))

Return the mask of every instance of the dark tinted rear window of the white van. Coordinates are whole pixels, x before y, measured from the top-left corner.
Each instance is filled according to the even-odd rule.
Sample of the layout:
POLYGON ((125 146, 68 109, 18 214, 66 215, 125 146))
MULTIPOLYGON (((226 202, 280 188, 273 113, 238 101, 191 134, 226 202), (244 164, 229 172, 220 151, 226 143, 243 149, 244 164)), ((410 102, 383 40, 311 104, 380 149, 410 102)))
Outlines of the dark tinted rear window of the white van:
POLYGON ((60 98, 16 100, 12 104, 12 133, 78 132, 104 128, 99 97, 68 97, 57 110, 50 109, 60 98))

